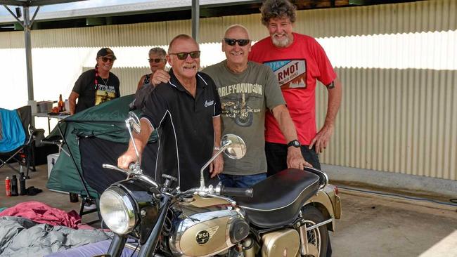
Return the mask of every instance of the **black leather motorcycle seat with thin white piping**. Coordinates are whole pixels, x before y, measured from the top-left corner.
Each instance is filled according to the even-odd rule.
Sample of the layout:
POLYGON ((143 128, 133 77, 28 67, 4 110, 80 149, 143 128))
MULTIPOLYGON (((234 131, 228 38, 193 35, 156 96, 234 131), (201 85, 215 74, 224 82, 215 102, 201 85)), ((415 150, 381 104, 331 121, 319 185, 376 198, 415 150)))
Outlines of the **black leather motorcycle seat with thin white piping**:
POLYGON ((319 176, 300 169, 286 169, 254 185, 254 197, 234 197, 259 228, 292 223, 304 202, 316 194, 319 176))

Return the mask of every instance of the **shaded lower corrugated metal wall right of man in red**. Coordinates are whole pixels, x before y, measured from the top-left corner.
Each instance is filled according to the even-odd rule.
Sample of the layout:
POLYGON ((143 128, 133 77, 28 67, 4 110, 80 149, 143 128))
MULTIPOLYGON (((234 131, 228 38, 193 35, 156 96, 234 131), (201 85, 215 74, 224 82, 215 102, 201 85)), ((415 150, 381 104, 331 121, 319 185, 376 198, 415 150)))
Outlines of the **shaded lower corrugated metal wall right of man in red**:
MULTIPOLYGON (((344 98, 326 164, 456 180, 457 71, 339 68, 344 98)), ((327 93, 318 90, 318 124, 327 93)))

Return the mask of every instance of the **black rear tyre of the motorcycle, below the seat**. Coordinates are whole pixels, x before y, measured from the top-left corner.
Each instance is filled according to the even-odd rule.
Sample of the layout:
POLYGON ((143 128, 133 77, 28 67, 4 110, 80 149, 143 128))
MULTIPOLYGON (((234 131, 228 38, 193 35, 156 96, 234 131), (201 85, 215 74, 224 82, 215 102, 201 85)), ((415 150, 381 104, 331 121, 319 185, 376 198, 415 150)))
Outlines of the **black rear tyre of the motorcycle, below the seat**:
MULTIPOLYGON (((302 208, 304 223, 307 227, 321 223, 325 218, 321 211, 314 206, 304 206, 302 208)), ((328 230, 326 225, 322 225, 314 230, 307 232, 309 254, 305 256, 323 257, 327 255, 328 230)))

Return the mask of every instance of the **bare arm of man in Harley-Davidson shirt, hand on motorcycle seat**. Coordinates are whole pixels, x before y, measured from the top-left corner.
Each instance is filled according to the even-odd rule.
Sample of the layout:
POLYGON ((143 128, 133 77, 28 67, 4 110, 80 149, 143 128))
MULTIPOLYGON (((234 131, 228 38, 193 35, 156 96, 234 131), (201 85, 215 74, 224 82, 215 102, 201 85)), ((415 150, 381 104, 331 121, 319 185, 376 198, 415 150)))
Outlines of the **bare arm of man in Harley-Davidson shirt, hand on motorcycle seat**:
MULTIPOLYGON (((285 105, 278 105, 271 110, 273 116, 278 121, 279 129, 283 132, 286 142, 297 140, 297 131, 295 124, 290 117, 289 111, 285 105)), ((288 168, 303 169, 304 166, 312 167, 311 164, 303 159, 300 147, 288 147, 287 157, 288 168)))

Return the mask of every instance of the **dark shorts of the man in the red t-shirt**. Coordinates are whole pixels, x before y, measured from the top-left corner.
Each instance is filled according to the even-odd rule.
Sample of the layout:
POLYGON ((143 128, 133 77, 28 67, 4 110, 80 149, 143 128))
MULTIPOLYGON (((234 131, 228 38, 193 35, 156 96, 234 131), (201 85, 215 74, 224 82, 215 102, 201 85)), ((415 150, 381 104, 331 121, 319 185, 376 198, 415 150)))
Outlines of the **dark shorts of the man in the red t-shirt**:
MULTIPOLYGON (((303 158, 309 162, 314 168, 321 169, 316 148, 308 148, 308 145, 301 147, 303 158)), ((266 163, 268 164, 268 176, 274 175, 279 171, 288 169, 287 156, 288 146, 278 143, 265 142, 266 163)))

